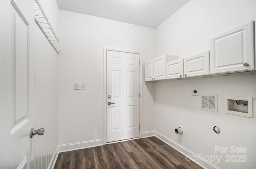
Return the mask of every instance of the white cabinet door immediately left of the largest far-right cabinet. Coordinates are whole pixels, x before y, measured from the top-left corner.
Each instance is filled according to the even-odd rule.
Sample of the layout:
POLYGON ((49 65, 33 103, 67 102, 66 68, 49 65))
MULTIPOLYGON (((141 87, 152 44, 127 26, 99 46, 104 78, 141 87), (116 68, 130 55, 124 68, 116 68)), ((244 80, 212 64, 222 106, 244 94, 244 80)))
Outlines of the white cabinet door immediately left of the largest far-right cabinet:
POLYGON ((184 77, 209 74, 209 51, 184 58, 184 77))

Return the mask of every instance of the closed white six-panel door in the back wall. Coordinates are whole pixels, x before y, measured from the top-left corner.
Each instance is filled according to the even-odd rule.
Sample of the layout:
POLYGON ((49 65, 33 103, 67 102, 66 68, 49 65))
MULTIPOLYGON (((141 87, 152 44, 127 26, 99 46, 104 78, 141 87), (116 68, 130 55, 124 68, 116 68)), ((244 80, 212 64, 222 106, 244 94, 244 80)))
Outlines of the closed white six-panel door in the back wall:
POLYGON ((139 56, 107 51, 106 142, 140 136, 139 56))

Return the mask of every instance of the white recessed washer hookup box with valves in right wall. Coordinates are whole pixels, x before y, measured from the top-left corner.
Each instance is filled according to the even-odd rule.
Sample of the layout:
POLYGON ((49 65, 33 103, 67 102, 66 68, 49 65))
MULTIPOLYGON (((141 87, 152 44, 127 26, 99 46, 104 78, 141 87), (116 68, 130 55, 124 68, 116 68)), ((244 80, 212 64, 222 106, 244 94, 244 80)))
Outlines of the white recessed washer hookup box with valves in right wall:
POLYGON ((225 96, 225 113, 252 118, 252 98, 225 96))

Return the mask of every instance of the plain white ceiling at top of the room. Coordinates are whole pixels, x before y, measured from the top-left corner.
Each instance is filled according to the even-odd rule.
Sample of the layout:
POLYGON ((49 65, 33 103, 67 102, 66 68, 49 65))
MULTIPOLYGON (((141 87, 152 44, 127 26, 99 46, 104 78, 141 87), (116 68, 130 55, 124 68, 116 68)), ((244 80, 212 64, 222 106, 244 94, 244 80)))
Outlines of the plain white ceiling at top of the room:
POLYGON ((156 28, 189 0, 57 0, 59 9, 156 28))

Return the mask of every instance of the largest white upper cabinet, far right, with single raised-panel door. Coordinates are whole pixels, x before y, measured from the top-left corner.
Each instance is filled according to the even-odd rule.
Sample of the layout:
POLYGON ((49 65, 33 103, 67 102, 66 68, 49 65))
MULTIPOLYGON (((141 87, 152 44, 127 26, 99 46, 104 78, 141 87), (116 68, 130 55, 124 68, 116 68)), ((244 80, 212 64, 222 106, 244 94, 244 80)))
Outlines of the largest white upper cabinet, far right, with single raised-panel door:
POLYGON ((254 21, 210 37, 210 73, 254 70, 254 21))

